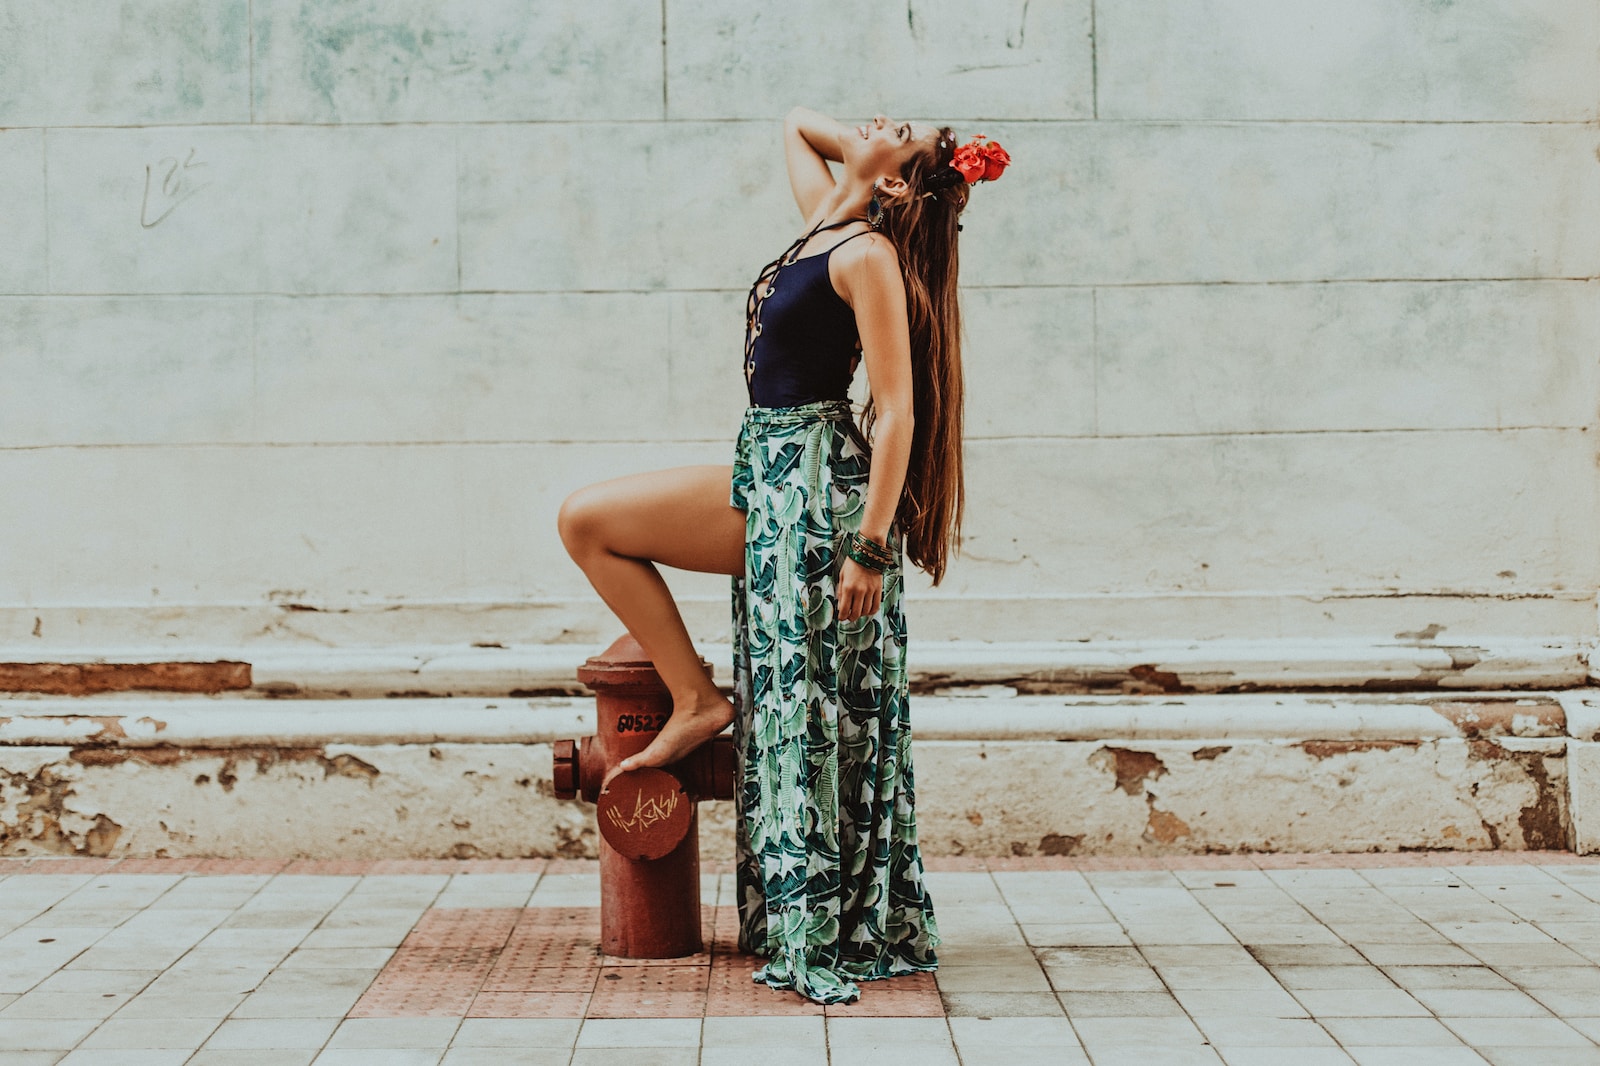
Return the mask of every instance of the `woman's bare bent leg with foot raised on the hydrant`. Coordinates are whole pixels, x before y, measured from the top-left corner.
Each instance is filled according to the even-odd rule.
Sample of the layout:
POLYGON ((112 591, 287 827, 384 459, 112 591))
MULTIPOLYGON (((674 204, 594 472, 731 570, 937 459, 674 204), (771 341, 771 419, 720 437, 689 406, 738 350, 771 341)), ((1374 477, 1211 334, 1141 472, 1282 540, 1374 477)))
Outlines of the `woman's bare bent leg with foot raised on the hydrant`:
POLYGON ((645 648, 672 693, 666 728, 611 776, 677 762, 733 722, 733 704, 701 667, 683 616, 654 565, 744 573, 744 512, 728 504, 731 479, 726 466, 678 466, 598 482, 562 504, 558 525, 566 552, 645 648))

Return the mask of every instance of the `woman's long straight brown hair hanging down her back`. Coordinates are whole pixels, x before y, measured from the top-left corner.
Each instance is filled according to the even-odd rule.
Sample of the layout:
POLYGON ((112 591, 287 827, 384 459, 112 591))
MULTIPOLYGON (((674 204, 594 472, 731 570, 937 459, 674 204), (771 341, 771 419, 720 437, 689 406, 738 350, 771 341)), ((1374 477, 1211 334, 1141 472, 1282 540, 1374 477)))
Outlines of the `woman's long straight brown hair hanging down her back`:
MULTIPOLYGON (((962 546, 962 309, 957 301, 958 256, 955 234, 966 206, 966 181, 950 181, 955 136, 939 130, 936 147, 901 166, 910 190, 883 210, 880 232, 899 254, 906 279, 906 320, 910 327, 912 443, 896 525, 906 555, 934 584, 944 579, 949 555, 962 546)), ((952 171, 954 173, 954 171, 952 171)), ((958 178, 958 176, 957 176, 958 178)), ((862 411, 870 434, 877 411, 862 411)))

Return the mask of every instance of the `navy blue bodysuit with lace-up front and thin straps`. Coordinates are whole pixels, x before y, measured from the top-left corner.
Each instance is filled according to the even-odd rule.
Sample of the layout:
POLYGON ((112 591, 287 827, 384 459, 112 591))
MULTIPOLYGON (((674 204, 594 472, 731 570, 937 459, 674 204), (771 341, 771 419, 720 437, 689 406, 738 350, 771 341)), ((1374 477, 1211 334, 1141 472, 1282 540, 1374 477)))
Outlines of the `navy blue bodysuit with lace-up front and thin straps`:
MULTIPOLYGON (((798 407, 850 399, 850 378, 861 351, 856 312, 834 291, 827 261, 834 248, 795 259, 814 234, 854 219, 818 226, 768 262, 746 304, 744 379, 755 407, 798 407)), ((870 230, 862 230, 870 232, 870 230)))

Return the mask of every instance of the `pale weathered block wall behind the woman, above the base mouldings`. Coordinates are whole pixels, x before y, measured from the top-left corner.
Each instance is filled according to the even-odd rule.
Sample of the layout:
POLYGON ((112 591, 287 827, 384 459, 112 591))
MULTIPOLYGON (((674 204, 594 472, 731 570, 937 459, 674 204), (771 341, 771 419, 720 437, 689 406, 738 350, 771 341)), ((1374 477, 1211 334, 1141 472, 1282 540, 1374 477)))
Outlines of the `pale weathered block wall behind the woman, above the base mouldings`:
MULTIPOLYGON (((0 645, 610 635, 557 503, 728 461, 795 102, 1016 158, 914 635, 1590 642, 1597 38, 1590 0, 13 0, 0 645)), ((725 637, 725 581, 677 587, 725 637)))

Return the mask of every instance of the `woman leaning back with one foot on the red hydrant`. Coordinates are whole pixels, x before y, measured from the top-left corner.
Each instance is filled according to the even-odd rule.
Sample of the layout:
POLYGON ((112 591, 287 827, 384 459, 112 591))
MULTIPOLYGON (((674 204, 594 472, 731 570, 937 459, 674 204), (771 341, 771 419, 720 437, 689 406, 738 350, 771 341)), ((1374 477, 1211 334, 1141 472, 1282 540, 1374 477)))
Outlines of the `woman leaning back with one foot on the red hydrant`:
POLYGON ((590 485, 560 531, 672 693, 667 727, 613 773, 675 762, 733 722, 741 948, 768 957, 755 980, 850 1002, 858 980, 938 965, 901 554, 938 584, 958 544, 957 219, 968 182, 1010 160, 957 149, 949 128, 803 107, 784 154, 806 227, 750 288, 733 467, 590 485), (862 359, 870 447, 846 399, 862 359), (733 703, 654 563, 733 578, 733 703))

